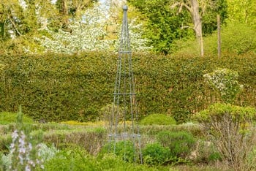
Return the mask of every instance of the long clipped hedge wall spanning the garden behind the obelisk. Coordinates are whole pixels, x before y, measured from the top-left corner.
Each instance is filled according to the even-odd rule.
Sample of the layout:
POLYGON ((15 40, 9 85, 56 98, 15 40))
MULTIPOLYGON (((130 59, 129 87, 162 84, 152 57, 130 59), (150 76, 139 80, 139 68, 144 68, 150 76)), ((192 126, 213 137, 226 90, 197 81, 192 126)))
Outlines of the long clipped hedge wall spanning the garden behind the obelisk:
MULTIPOLYGON (((117 54, 77 56, 1 56, 0 111, 23 113, 37 121, 94 121, 113 101, 117 54)), ((256 55, 161 56, 133 54, 139 113, 170 113, 178 122, 219 102, 219 94, 203 80, 217 67, 240 75, 244 92, 239 105, 256 107, 256 55)))

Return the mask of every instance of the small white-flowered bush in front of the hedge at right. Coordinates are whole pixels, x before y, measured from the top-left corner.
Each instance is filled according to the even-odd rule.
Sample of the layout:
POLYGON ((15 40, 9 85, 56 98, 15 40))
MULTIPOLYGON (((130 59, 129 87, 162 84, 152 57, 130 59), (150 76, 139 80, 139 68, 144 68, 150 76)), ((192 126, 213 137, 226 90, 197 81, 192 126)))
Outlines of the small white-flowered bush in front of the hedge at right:
POLYGON ((243 89, 238 83, 238 72, 231 69, 216 69, 214 72, 203 75, 206 82, 219 91, 225 102, 233 102, 237 94, 243 89))

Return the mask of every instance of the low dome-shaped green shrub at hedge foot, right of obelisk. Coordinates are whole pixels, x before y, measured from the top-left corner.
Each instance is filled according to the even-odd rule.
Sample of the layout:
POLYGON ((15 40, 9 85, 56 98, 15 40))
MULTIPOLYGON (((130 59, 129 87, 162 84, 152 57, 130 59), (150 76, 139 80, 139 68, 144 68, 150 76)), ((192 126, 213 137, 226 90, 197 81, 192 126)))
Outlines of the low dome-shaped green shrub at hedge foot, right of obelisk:
POLYGON ((173 117, 164 114, 151 114, 140 121, 142 125, 174 125, 176 121, 173 117))

